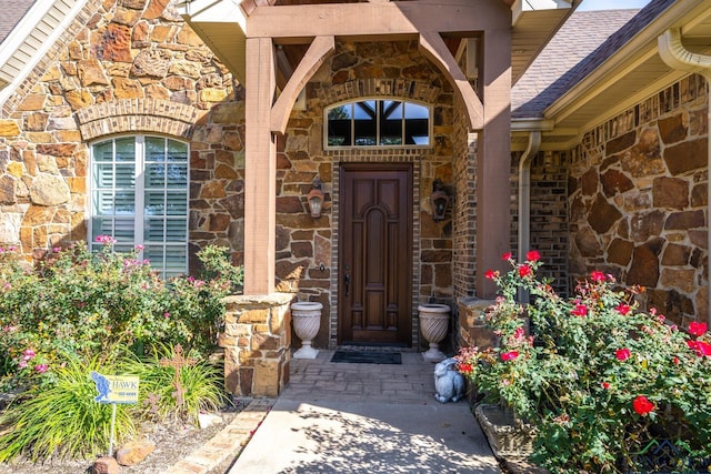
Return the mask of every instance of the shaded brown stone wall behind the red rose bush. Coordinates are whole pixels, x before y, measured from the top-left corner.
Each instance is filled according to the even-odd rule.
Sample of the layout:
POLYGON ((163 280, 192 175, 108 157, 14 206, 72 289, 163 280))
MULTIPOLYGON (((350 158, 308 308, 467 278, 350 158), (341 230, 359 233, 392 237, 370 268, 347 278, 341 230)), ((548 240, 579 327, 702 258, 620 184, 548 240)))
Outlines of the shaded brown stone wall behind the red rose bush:
POLYGON ((708 108, 691 75, 585 133, 570 168, 571 284, 602 270, 678 324, 707 321, 708 108))

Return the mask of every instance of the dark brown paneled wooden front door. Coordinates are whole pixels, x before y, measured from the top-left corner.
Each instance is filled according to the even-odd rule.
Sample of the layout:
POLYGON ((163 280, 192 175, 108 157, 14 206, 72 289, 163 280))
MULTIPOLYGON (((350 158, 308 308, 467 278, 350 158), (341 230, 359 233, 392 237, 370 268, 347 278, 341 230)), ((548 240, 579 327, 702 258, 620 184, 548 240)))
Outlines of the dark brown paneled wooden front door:
POLYGON ((412 165, 340 169, 339 343, 412 345, 412 165))

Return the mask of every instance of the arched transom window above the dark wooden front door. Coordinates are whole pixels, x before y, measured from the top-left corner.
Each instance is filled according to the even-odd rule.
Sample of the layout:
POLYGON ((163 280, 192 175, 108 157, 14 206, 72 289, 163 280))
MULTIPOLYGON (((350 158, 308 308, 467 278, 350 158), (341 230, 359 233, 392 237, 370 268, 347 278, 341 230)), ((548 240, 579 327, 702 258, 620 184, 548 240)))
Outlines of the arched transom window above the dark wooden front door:
POLYGON ((398 99, 365 99, 326 109, 324 147, 430 147, 432 109, 398 99))

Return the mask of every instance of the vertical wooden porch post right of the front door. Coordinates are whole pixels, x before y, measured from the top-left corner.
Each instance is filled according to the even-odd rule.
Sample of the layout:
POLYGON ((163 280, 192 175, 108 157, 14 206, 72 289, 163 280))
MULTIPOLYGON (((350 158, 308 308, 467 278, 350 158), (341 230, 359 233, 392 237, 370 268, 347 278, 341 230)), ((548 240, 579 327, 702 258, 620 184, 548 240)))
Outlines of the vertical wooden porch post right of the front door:
POLYGON ((511 30, 487 30, 483 51, 484 128, 477 153, 477 296, 491 299, 497 288, 484 272, 508 270, 501 254, 511 250, 511 30))

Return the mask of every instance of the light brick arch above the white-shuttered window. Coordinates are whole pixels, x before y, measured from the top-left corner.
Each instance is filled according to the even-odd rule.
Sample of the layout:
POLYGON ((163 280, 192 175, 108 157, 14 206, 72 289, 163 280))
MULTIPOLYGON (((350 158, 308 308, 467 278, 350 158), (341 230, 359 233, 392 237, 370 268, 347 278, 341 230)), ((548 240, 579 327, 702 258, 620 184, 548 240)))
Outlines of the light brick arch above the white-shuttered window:
POLYGON ((77 112, 77 119, 83 140, 137 131, 190 139, 198 112, 168 100, 129 99, 87 107, 77 112))

